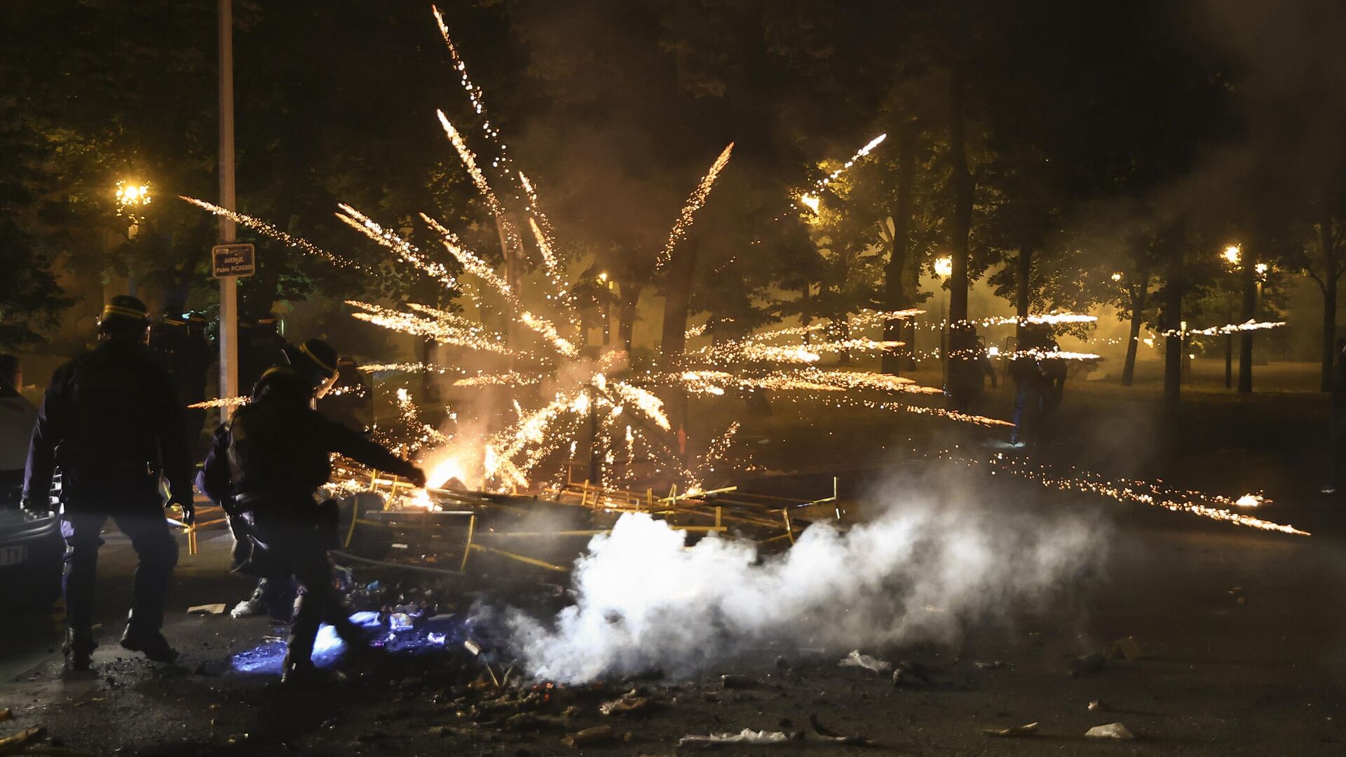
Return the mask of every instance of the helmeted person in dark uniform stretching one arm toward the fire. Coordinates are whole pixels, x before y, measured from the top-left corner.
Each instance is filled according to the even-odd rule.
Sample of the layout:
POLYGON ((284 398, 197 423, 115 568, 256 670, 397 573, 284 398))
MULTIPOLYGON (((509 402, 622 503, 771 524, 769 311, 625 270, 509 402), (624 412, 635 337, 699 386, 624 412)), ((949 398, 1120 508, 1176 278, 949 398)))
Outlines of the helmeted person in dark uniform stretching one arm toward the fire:
POLYGON ((332 590, 327 550, 336 546, 335 512, 314 496, 331 477, 331 454, 416 485, 424 485, 425 474, 314 409, 336 377, 330 345, 310 339, 287 350, 287 358, 289 365, 267 370, 250 401, 215 432, 199 481, 246 525, 250 559, 264 566, 265 578, 292 575, 303 586, 281 675, 295 684, 320 680, 311 657, 322 622, 335 626, 347 644, 366 643, 332 590))

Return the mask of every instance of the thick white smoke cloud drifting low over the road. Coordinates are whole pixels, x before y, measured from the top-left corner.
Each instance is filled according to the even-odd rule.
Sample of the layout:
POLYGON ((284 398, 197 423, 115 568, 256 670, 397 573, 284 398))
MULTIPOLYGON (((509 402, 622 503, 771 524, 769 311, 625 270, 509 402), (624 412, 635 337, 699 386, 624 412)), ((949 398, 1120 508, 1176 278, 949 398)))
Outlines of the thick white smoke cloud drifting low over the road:
POLYGON ((1082 517, 996 512, 906 496, 843 532, 817 523, 786 552, 625 515, 575 567, 576 602, 551 622, 513 612, 513 644, 537 678, 581 683, 661 668, 686 673, 763 643, 829 649, 954 643, 1067 593, 1102 550, 1082 517))

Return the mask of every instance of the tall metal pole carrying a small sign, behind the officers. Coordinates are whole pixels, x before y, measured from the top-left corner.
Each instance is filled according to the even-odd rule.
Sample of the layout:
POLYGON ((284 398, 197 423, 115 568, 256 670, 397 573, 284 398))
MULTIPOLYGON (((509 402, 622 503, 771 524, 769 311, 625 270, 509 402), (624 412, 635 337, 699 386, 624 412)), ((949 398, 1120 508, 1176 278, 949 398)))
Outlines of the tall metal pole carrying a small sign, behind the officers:
MULTIPOLYGON (((219 0, 219 205, 234 202, 234 15, 232 0, 219 0)), ((219 242, 234 241, 234 222, 219 217, 219 242)), ((219 396, 238 396, 238 279, 219 280, 219 396)), ((219 408, 229 420, 230 405, 219 408)))

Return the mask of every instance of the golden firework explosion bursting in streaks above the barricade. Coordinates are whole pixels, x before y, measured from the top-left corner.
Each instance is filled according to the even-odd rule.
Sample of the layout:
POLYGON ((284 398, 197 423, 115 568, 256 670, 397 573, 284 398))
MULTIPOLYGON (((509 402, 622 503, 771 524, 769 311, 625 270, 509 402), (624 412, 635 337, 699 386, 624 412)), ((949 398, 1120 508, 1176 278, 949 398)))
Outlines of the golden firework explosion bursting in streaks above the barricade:
MULTIPOLYGON (((455 69, 462 75, 462 86, 467 92, 474 110, 486 119, 482 90, 468 79, 466 63, 454 46, 448 35, 448 28, 437 9, 435 11, 435 19, 454 58, 455 69)), ((491 178, 482 170, 476 155, 468 145, 467 137, 441 110, 436 112, 436 116, 478 194, 487 209, 497 217, 502 236, 506 237, 505 244, 513 245, 518 242, 518 232, 510 221, 509 209, 501 201, 502 194, 493 189, 491 178)), ((483 489, 540 488, 548 477, 541 470, 545 462, 564 463, 567 462, 567 455, 568 462, 575 462, 577 457, 587 455, 592 477, 596 478, 592 482, 602 486, 634 482, 638 463, 649 463, 649 474, 662 477, 664 480, 673 478, 686 492, 704 490, 701 478, 705 473, 715 471, 716 466, 728 458, 730 447, 738 432, 738 423, 731 424, 716 435, 709 445, 705 458, 696 461, 693 463, 696 467, 692 467, 685 462, 685 455, 674 453, 674 445, 669 443, 669 436, 672 436, 676 424, 669 419, 664 400, 651 389, 674 389, 705 396, 724 396, 730 392, 793 392, 800 396, 814 397, 824 407, 918 414, 981 427, 1011 426, 1011 423, 1001 419, 898 401, 896 397, 903 395, 944 393, 941 388, 923 387, 911 378, 863 370, 821 369, 813 365, 820 362, 825 354, 878 354, 900 348, 903 342, 899 341, 849 337, 849 333, 880 326, 892 319, 913 319, 923 314, 923 310, 875 310, 852 314, 848 319, 848 329, 845 329, 848 335, 845 337, 837 337, 836 325, 830 323, 786 326, 734 338, 725 338, 715 333, 709 345, 693 349, 684 356, 682 368, 678 372, 635 373, 627 366, 625 353, 616 350, 596 357, 586 354, 577 346, 584 343, 579 307, 573 298, 571 282, 567 280, 561 261, 556 255, 555 229, 540 209, 537 187, 522 171, 516 171, 510 167, 506 145, 501 140, 498 129, 491 127, 489 120, 482 125, 482 136, 494 147, 494 156, 489 160, 490 167, 506 180, 518 182, 522 197, 526 198, 524 206, 526 226, 536 241, 541 268, 545 272, 544 282, 546 291, 541 292, 544 308, 526 308, 521 294, 516 291, 516 287, 510 282, 497 273, 495 268, 486 259, 470 251, 458 234, 428 214, 423 213, 420 218, 435 232, 444 251, 459 264, 463 273, 479 284, 479 292, 472 292, 468 287, 464 287, 463 282, 459 280, 459 275, 447 265, 433 260, 411 241, 384 228, 357 209, 341 205, 339 213, 336 213, 336 217, 345 224, 376 244, 385 246, 401 263, 415 267, 428 277, 439 282, 447 290, 451 290, 450 294, 464 294, 482 310, 494 310, 501 317, 501 322, 518 323, 529 331, 526 334, 528 339, 511 338, 511 334, 507 331, 491 329, 482 322, 468 319, 460 314, 417 303, 405 303, 401 307, 385 307, 359 300, 347 302, 354 308, 353 315, 357 319, 393 331, 429 338, 441 345, 452 345, 510 361, 507 370, 497 372, 470 372, 427 364, 366 365, 362 370, 370 373, 432 372, 454 374, 452 385, 462 388, 517 388, 529 385, 540 385, 542 388, 541 399, 537 400, 538 407, 525 408, 520 404, 520 399, 513 399, 513 420, 490 432, 464 430, 458 424, 458 418, 454 414, 450 414, 448 418, 451 422, 450 426, 455 427, 452 431, 427 424, 420 419, 420 414, 411 396, 405 391, 400 391, 396 404, 400 424, 405 427, 406 434, 401 439, 393 439, 388 435, 384 439, 392 443, 398 451, 417 457, 428 467, 432 467, 432 485, 439 485, 450 477, 466 481, 464 471, 474 470, 479 471, 481 475, 475 481, 483 489), (493 294, 490 299, 485 296, 489 292, 493 294), (549 312, 542 312, 541 310, 549 312), (450 453, 450 449, 454 451, 450 453), (468 454, 463 450, 474 451, 468 454), (464 458, 472 459, 466 461, 464 458)), ((813 186, 814 193, 804 194, 800 201, 816 209, 820 197, 817 193, 857 160, 868 155, 883 139, 884 135, 880 135, 871 140, 840 168, 816 182, 813 186)), ((697 210, 705 203, 717 176, 727 166, 732 148, 732 143, 724 148, 712 163, 709 171, 690 193, 690 197, 673 224, 668 242, 657 256, 657 268, 662 268, 669 263, 676 245, 690 229, 697 210)), ((183 199, 214 214, 242 224, 260 234, 276 238, 288 246, 323 257, 336 265, 367 272, 367 268, 354 264, 339 255, 327 252, 307 240, 281 232, 261 220, 209 202, 191 198, 183 199)), ((1093 321, 1097 321, 1093 315, 1049 312, 1027 318, 987 318, 958 325, 1057 326, 1081 325, 1093 321)), ((725 323, 730 323, 730 321, 717 321, 716 329, 725 323)), ((927 327, 946 329, 958 325, 941 322, 927 327)), ((1225 334, 1269 329, 1279 325, 1249 322, 1205 331, 1183 330, 1183 333, 1225 334)), ((688 337, 704 335, 708 330, 708 326, 700 326, 689 330, 688 337)), ((1023 350, 1022 353, 1011 353, 1005 357, 1098 360, 1098 356, 1093 353, 1070 353, 1059 349, 1023 350)), ((192 407, 219 407, 241 401, 245 400, 230 397, 192 407)), ((678 428, 678 431, 681 432, 682 430, 678 428)), ((1264 500, 1254 494, 1246 494, 1238 500, 1203 496, 1205 501, 1211 504, 1201 504, 1195 501, 1199 498, 1193 496, 1195 493, 1172 492, 1144 482, 1112 482, 1092 474, 1054 475, 1044 470, 1030 470, 1026 466, 1016 467, 1001 458, 992 459, 989 465, 997 470, 1023 475, 1055 489, 1093 492, 1119 501, 1139 501, 1170 511, 1201 515, 1241 525, 1285 533, 1304 533, 1288 525, 1275 524, 1228 509, 1230 506, 1248 508, 1261 504, 1264 500)), ((557 465, 556 467, 563 466, 557 465)))

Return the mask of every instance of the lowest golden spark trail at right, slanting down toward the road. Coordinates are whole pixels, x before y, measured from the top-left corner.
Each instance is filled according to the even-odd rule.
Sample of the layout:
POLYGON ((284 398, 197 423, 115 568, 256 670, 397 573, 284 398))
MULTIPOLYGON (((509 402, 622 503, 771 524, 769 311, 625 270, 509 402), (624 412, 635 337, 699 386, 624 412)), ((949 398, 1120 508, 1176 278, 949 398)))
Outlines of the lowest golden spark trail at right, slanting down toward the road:
MULTIPOLYGON (((970 458, 948 457, 956 462, 965 462, 968 465, 975 465, 979 461, 970 458)), ((1027 481, 1034 481, 1040 484, 1047 489, 1057 489, 1059 492, 1084 492, 1089 494, 1098 494, 1101 497, 1108 497, 1119 502, 1140 502, 1144 505, 1151 505, 1156 508, 1163 508, 1172 512, 1184 512, 1211 520, 1233 523, 1236 525, 1246 525, 1249 528, 1257 528, 1261 531, 1275 531, 1279 533, 1288 533, 1292 536, 1310 536, 1307 531, 1300 531, 1294 525, 1275 523, 1269 520, 1263 520, 1260 517, 1253 517, 1237 512, 1232 512, 1224 508, 1213 508, 1209 505, 1198 504, 1194 500, 1206 500, 1224 505, 1237 506, 1240 500, 1249 497, 1245 494, 1238 500, 1232 497, 1222 497, 1215 494, 1205 494, 1202 492, 1183 492, 1175 489, 1167 489, 1159 486, 1158 484, 1148 484, 1144 481, 1109 481, 1097 473, 1089 471, 1074 471, 1078 475, 1053 475, 1046 467, 1039 467, 1036 470, 1028 469, 1026 465, 1018 461, 1007 459, 1004 455, 996 455, 989 461, 985 461, 988 466, 997 471, 1005 471, 1012 475, 1018 475, 1027 481)), ((1256 497, 1253 494, 1253 497, 1256 497)), ((1259 501, 1263 501, 1259 497, 1259 501)))

